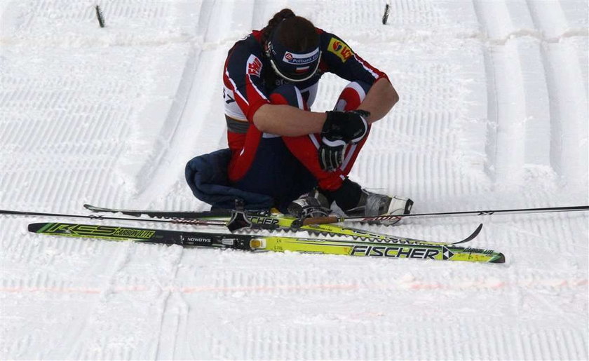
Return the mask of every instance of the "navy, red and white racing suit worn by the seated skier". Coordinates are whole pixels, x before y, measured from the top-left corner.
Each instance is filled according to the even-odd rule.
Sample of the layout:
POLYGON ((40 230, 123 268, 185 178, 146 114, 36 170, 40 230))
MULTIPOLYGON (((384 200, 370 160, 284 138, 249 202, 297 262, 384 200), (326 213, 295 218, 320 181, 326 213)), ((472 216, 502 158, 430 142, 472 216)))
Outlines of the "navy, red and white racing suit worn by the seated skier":
MULTIPOLYGON (((372 67, 338 36, 317 29, 321 58, 318 71, 306 81, 289 83, 277 76, 264 56, 262 32, 254 31, 229 50, 223 72, 227 140, 231 149, 229 184, 236 189, 271 196, 274 206, 288 203, 315 186, 334 190, 350 172, 366 137, 351 144, 344 163, 334 172, 320 168, 320 136, 285 137, 261 132, 253 123, 264 104, 289 104, 310 110, 318 82, 325 73, 350 81, 336 102, 336 110, 352 110, 364 100, 372 84, 386 74, 372 67)), ((277 119, 276 121, 280 121, 277 119)))

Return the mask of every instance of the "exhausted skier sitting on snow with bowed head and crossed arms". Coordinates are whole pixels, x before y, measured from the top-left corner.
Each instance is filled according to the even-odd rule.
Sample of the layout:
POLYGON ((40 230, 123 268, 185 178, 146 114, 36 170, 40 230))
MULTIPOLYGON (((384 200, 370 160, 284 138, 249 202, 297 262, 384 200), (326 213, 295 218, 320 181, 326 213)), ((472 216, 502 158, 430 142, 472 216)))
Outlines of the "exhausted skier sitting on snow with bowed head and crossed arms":
POLYGON ((386 74, 339 37, 283 9, 229 50, 223 85, 229 149, 187 164, 197 198, 223 208, 241 199, 246 209, 288 208, 299 217, 333 203, 351 217, 409 212, 411 200, 347 177, 370 124, 399 97, 386 74), (333 111, 310 111, 326 72, 351 83, 333 111))

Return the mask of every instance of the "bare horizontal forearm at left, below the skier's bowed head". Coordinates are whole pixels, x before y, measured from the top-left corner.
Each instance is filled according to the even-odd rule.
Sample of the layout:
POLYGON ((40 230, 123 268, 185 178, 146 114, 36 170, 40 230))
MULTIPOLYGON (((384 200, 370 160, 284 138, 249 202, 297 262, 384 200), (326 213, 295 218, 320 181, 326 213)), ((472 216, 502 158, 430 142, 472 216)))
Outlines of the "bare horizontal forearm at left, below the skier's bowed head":
POLYGON ((286 137, 319 133, 325 113, 304 111, 284 104, 265 104, 254 114, 254 125, 262 132, 286 137))

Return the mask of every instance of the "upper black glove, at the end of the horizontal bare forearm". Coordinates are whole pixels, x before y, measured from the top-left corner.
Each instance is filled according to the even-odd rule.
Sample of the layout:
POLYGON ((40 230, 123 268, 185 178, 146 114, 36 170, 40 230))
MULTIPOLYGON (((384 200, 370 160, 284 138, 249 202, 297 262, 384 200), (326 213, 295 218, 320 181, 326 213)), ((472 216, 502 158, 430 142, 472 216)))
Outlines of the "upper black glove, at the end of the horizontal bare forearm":
POLYGON ((358 143, 368 131, 368 123, 365 117, 370 112, 365 110, 353 111, 326 111, 327 119, 323 123, 321 135, 327 139, 325 144, 343 140, 345 143, 358 143))

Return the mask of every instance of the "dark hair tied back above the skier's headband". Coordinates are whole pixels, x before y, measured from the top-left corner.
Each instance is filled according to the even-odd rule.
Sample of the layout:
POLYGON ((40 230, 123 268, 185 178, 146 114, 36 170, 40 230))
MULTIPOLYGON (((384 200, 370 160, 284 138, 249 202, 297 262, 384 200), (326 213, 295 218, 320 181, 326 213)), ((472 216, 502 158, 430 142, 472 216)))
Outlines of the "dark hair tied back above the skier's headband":
POLYGON ((295 15, 289 8, 283 8, 262 29, 264 46, 278 25, 281 25, 277 34, 278 40, 290 50, 303 51, 319 44, 319 36, 313 23, 295 15))

